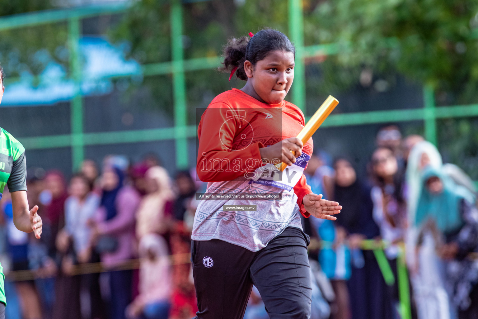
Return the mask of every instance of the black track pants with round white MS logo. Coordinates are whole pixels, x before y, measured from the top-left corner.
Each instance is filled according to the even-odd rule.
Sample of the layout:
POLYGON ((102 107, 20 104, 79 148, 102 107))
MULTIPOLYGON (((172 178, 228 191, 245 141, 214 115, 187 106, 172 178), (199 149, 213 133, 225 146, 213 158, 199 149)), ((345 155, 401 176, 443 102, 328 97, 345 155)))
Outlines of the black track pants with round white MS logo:
POLYGON ((195 319, 242 319, 252 285, 271 319, 309 319, 309 236, 287 227, 258 252, 221 240, 193 241, 195 319))

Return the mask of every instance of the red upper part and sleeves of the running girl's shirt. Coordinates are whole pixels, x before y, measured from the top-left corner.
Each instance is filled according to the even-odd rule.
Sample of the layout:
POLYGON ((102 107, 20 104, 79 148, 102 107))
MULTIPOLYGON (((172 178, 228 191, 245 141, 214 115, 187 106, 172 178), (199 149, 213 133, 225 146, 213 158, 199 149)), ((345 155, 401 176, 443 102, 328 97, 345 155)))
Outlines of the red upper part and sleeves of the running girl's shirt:
MULTIPOLYGON (((197 134, 197 176, 206 182, 232 181, 265 163, 259 149, 297 136, 304 127, 304 114, 290 102, 270 105, 238 89, 219 94, 201 117, 197 134)), ((302 152, 313 151, 312 138, 302 152)), ((312 193, 302 175, 293 187, 304 217, 303 198, 312 193)))

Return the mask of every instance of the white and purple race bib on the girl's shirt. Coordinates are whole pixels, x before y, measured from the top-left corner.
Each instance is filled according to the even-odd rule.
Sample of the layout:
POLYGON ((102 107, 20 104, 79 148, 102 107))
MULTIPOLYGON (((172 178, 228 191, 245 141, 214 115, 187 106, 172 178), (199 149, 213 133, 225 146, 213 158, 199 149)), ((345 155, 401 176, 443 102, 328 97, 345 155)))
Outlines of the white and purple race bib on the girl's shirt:
POLYGON ((249 181, 249 184, 257 183, 290 191, 302 177, 309 160, 310 156, 302 152, 302 155, 295 159, 295 163, 286 166, 282 172, 272 164, 263 165, 254 171, 254 178, 249 181))

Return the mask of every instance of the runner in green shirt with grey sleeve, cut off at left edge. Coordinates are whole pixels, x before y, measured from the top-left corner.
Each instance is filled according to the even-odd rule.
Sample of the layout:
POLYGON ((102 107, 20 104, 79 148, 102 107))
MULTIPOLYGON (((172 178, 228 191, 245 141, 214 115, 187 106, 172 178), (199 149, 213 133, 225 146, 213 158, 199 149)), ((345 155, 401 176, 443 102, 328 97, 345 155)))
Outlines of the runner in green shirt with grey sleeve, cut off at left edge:
MULTIPOLYGON (((5 87, 3 69, 0 65, 0 103, 5 87)), ((0 128, 0 199, 8 186, 13 207, 13 223, 24 232, 34 232, 36 238, 42 234, 42 219, 37 214, 38 206, 30 209, 27 200, 25 149, 11 134, 0 128)), ((0 319, 5 319, 5 290, 3 268, 0 265, 0 319)))

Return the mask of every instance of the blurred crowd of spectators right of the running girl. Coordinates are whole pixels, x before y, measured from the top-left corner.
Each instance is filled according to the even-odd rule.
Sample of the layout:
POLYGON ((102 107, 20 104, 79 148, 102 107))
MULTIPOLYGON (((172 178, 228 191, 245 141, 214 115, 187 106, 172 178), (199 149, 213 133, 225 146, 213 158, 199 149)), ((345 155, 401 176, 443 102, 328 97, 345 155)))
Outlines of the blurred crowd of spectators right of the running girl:
POLYGON ((375 144, 365 167, 318 152, 305 170, 315 193, 343 206, 336 221, 303 219, 318 243, 309 246, 322 293, 313 318, 478 318, 475 184, 396 125, 380 128, 375 144))

